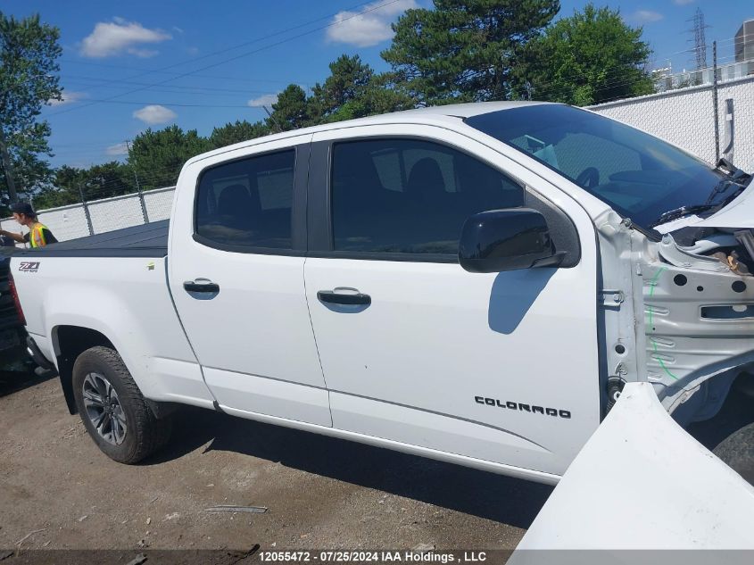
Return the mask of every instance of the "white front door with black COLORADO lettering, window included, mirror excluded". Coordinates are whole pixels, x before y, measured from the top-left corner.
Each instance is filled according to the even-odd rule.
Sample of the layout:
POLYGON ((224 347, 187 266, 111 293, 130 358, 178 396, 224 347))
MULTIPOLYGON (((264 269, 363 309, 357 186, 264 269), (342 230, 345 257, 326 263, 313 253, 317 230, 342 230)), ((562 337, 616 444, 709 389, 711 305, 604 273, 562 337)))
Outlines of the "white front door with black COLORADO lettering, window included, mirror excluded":
POLYGON ((448 129, 370 126, 312 141, 306 293, 333 425, 562 473, 600 421, 586 213, 448 129), (464 220, 528 206, 527 186, 571 226, 576 264, 461 269, 464 220))

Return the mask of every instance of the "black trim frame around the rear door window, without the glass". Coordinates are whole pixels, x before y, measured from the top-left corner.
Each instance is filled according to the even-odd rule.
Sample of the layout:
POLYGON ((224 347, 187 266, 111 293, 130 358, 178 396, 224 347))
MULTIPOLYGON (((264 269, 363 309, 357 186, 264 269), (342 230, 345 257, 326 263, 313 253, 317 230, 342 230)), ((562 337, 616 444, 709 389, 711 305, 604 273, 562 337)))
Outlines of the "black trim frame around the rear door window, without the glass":
POLYGON ((217 162, 210 166, 205 167, 196 177, 196 185, 194 189, 194 205, 192 207, 193 219, 192 219, 192 239, 206 247, 212 249, 218 249, 220 251, 227 251, 229 253, 251 253, 260 255, 286 255, 291 257, 305 256, 307 250, 307 183, 309 179, 309 166, 310 166, 310 154, 311 143, 302 143, 296 145, 290 145, 287 147, 277 147, 268 151, 259 151, 252 154, 239 155, 233 159, 227 161, 217 162), (269 154, 285 153, 286 151, 294 150, 294 189, 293 189, 293 203, 291 206, 291 248, 280 249, 278 247, 261 247, 253 245, 232 245, 224 244, 214 241, 208 237, 203 237, 198 233, 197 219, 199 208, 199 187, 202 182, 202 178, 205 172, 215 167, 228 164, 230 162, 244 161, 245 159, 251 159, 253 157, 262 157, 269 154))

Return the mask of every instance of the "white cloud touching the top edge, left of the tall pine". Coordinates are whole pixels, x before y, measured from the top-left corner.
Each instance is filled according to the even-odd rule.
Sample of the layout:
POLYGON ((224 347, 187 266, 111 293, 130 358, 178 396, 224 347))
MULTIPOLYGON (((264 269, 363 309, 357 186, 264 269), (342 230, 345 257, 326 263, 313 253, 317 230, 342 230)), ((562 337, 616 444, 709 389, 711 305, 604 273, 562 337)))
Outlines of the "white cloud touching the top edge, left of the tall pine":
POLYGON ((376 46, 393 37, 390 23, 395 17, 410 8, 416 8, 416 0, 398 0, 387 4, 384 0, 377 0, 367 4, 360 12, 337 12, 331 25, 327 28, 327 40, 336 43, 347 43, 357 47, 376 46))

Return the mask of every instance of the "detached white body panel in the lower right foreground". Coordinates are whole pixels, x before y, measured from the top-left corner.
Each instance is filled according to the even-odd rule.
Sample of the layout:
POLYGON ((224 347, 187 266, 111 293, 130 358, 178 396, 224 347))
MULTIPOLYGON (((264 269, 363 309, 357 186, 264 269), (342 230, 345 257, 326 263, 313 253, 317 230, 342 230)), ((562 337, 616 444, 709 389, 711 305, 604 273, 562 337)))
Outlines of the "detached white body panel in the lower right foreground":
POLYGON ((679 427, 650 383, 629 383, 509 563, 543 562, 530 550, 754 550, 752 523, 754 487, 679 427))

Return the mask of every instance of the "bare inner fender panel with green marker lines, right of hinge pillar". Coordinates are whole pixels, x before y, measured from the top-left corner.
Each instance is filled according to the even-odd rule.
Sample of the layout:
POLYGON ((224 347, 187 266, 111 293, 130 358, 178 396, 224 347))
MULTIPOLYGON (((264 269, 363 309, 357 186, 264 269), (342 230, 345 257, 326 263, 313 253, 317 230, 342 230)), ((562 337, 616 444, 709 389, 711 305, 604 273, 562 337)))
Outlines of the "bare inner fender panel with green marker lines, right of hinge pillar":
POLYGON ((681 228, 642 264, 647 378, 682 425, 754 378, 754 233, 681 228))

